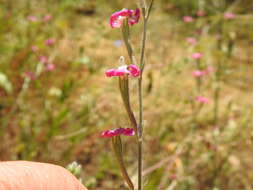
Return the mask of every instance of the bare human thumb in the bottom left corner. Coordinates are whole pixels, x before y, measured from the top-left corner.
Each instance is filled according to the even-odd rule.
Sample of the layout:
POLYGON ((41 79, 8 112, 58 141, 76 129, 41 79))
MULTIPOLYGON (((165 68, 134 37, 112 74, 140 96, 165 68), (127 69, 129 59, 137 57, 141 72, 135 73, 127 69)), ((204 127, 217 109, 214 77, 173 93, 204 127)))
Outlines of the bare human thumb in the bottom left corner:
POLYGON ((87 190, 61 166, 28 162, 0 162, 1 190, 87 190))

